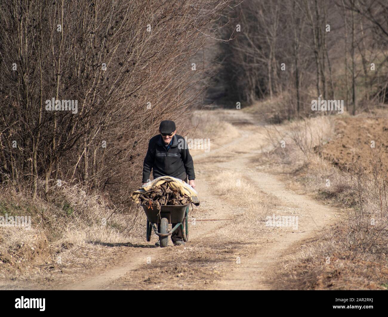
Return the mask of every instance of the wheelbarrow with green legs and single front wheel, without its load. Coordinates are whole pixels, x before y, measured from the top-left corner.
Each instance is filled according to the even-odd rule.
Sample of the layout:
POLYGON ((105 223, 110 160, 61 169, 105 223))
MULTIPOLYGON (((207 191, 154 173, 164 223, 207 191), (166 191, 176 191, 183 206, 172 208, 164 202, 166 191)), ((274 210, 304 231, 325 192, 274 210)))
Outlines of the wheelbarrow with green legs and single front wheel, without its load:
POLYGON ((182 238, 184 242, 189 241, 189 206, 187 205, 166 205, 160 207, 159 210, 154 207, 153 209, 141 205, 144 209, 145 215, 147 216, 147 241, 151 240, 152 229, 155 234, 160 237, 160 247, 164 248, 168 246, 168 236, 170 236, 179 226, 182 229, 182 238), (185 222, 185 232, 183 223, 185 222), (176 223, 174 228, 168 231, 168 224, 176 223), (156 224, 160 224, 160 232, 156 224))

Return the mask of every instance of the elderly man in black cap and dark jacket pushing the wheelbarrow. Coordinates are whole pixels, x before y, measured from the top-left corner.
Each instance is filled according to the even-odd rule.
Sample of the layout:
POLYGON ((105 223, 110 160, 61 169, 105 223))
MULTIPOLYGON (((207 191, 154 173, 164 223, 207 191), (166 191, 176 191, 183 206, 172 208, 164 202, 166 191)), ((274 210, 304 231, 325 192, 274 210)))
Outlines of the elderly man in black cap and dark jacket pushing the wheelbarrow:
MULTIPOLYGON (((163 120, 159 125, 160 134, 149 140, 148 151, 143 163, 143 185, 149 182, 152 169, 154 179, 160 176, 171 176, 187 182, 195 188, 193 159, 187 148, 185 139, 176 134, 175 122, 163 120)), ((175 224, 172 224, 175 226, 175 224)), ((159 229, 159 228, 158 228, 159 229)), ((174 245, 185 244, 182 230, 178 227, 171 235, 174 245)), ((160 245, 160 240, 155 243, 160 245)))

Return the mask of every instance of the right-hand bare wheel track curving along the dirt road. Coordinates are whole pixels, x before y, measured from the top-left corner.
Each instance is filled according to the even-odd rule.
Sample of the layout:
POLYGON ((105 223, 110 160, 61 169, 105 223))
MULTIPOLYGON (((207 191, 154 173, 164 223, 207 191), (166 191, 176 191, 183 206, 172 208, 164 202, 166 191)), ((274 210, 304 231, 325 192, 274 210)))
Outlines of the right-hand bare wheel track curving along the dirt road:
MULTIPOLYGON (((244 143, 252 137, 251 131, 242 129, 244 143)), ((238 140, 237 142, 239 142, 238 140)), ((236 143, 236 142, 233 142, 236 143)), ((242 146, 242 149, 244 147, 242 146)), ((270 146, 267 145, 267 150, 270 146)), ((222 151, 221 149, 218 151, 222 151)), ((218 163, 220 170, 230 170, 242 175, 250 183, 256 185, 263 192, 274 195, 279 199, 274 214, 287 216, 284 209, 294 209, 295 215, 300 219, 298 230, 282 231, 271 243, 260 247, 251 256, 241 259, 241 264, 227 264, 228 272, 211 289, 227 290, 267 290, 271 289, 271 279, 275 276, 275 269, 285 257, 293 254, 293 251, 303 244, 307 238, 316 236, 324 226, 334 223, 340 211, 325 206, 306 195, 300 195, 288 190, 281 180, 275 175, 258 171, 252 162, 262 153, 262 149, 256 149, 244 153, 239 151, 229 162, 218 163)), ((235 152, 236 153, 236 152, 235 152)), ((272 215, 268 215, 272 216, 272 215)), ((256 241, 259 242, 259 241, 256 241)), ((254 246, 252 248, 255 248, 254 246)))

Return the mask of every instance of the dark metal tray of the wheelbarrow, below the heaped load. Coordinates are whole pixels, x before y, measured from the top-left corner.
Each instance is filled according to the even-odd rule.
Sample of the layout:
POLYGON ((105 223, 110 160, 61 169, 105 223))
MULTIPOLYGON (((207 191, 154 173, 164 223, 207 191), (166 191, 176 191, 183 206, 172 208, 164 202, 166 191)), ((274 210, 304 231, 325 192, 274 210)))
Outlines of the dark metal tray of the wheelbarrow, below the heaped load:
POLYGON ((156 207, 151 209, 145 205, 141 206, 143 207, 145 215, 150 223, 160 223, 161 218, 167 218, 168 223, 180 223, 185 218, 186 208, 189 204, 161 206, 160 212, 156 207))

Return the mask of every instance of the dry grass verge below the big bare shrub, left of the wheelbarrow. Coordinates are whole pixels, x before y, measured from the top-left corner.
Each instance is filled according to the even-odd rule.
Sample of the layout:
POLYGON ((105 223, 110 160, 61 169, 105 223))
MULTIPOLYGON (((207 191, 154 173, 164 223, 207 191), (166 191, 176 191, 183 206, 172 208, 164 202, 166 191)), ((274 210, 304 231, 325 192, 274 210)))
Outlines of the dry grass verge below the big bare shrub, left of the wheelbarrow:
POLYGON ((139 211, 114 207, 101 195, 87 195, 85 188, 64 182, 35 200, 3 188, 0 216, 30 216, 31 229, 0 226, 0 274, 16 279, 68 266, 102 265, 116 252, 106 246, 133 242, 143 233, 145 219, 139 211))

